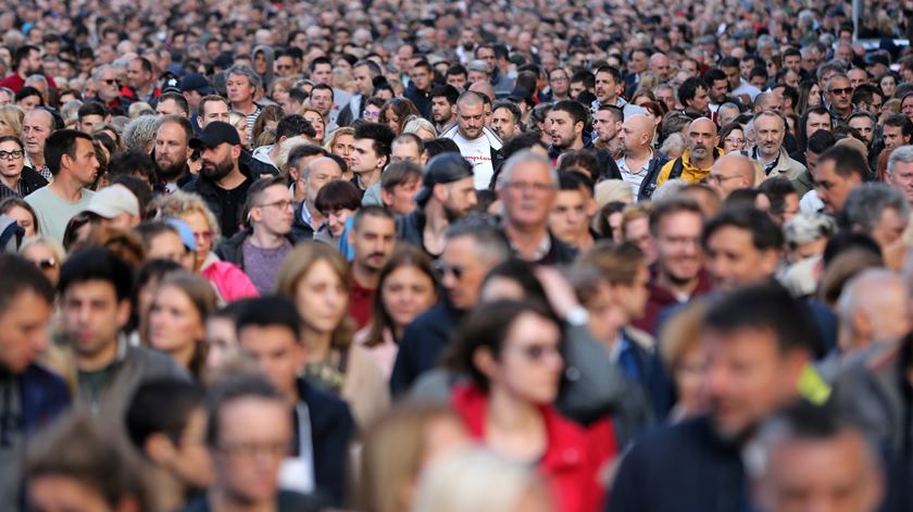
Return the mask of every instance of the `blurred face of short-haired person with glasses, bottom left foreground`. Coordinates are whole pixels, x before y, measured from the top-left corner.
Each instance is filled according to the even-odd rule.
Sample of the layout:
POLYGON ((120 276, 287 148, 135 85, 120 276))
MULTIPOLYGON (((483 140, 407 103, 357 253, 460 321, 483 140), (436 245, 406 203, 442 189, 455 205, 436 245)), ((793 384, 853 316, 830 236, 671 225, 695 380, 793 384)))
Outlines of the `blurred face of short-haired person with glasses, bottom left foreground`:
POLYGON ((218 425, 212 448, 215 486, 243 502, 275 499, 279 466, 292 439, 288 408, 276 400, 241 397, 222 405, 218 425))

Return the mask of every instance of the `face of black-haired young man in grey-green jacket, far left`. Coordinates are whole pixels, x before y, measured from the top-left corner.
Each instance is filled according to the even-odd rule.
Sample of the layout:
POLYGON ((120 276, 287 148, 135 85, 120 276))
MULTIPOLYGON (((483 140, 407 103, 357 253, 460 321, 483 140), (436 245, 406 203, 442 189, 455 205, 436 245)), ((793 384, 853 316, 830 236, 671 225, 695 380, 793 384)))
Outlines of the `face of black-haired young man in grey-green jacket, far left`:
POLYGON ((74 283, 63 294, 66 334, 80 357, 98 355, 116 344, 129 313, 129 301, 118 302, 114 285, 105 280, 74 283))

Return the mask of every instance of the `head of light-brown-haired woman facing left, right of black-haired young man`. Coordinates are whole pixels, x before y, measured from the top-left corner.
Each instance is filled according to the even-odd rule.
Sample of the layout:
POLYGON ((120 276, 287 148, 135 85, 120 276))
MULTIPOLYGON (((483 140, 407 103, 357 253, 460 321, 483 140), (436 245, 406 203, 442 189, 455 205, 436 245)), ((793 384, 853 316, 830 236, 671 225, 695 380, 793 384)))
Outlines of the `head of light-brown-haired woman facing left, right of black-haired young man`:
POLYGON ((204 278, 175 272, 162 278, 149 307, 146 342, 200 378, 205 362, 205 322, 216 297, 204 278))

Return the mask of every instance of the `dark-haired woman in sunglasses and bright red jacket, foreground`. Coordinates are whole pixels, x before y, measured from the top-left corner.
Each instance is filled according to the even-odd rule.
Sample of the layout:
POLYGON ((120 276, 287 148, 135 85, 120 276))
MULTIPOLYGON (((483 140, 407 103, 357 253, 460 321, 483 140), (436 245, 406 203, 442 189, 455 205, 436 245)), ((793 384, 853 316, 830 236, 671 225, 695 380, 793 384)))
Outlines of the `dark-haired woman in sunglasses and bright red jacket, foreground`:
POLYGON ((561 333, 556 317, 538 302, 477 308, 447 360, 450 370, 468 377, 452 401, 472 437, 542 474, 556 510, 597 510, 604 461, 584 430, 552 405, 564 371, 561 333))

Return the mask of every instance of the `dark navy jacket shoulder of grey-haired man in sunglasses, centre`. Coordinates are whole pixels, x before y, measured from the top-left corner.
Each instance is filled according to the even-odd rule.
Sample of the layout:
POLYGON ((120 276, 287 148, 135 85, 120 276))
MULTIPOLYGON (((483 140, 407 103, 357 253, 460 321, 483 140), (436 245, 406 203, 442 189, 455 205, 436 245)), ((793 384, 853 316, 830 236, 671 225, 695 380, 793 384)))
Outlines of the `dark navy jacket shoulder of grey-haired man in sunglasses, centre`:
POLYGON ((442 298, 405 327, 390 375, 390 391, 402 396, 423 373, 438 365, 460 313, 442 298))

